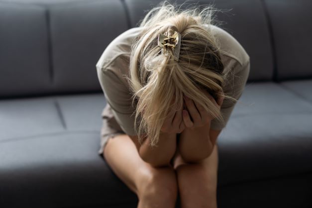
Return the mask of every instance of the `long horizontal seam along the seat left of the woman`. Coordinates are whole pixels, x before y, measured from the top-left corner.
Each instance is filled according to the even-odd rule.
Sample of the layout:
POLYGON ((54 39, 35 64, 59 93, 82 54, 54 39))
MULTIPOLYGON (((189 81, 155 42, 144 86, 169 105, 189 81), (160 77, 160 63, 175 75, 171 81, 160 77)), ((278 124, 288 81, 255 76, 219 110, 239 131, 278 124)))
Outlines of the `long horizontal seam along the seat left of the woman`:
MULTIPOLYGON (((26 140, 26 139, 35 139, 35 138, 41 138, 44 136, 57 136, 61 134, 81 134, 81 133, 96 133, 100 135, 100 130, 82 130, 82 131, 58 131, 58 132, 53 132, 53 133, 43 133, 43 134, 36 134, 36 135, 29 135, 29 136, 20 136, 20 137, 12 137, 12 138, 6 138, 0 140, 0 143, 6 143, 6 142, 11 142, 11 141, 18 141, 18 140, 26 140)), ((90 139, 90 138, 88 138, 90 139)))

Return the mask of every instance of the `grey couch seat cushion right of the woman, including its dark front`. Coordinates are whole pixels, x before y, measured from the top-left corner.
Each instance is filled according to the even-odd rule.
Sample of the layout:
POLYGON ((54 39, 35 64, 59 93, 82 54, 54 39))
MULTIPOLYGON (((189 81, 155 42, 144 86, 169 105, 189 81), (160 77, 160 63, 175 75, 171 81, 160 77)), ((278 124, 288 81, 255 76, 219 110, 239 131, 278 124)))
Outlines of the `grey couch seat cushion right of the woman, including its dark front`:
POLYGON ((311 123, 311 102, 279 84, 247 83, 217 140, 219 184, 311 172, 311 123))

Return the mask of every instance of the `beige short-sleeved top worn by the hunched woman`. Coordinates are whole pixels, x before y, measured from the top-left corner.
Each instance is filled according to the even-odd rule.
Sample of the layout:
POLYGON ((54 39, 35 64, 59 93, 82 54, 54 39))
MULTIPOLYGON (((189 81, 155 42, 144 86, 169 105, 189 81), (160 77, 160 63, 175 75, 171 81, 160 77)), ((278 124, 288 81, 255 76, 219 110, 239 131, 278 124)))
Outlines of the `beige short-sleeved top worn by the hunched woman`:
MULTIPOLYGON (((131 107, 130 88, 123 76, 128 76, 130 47, 134 37, 140 32, 140 27, 133 27, 118 35, 106 47, 96 64, 98 78, 102 86, 107 104, 110 105, 114 118, 121 129, 128 135, 136 135, 134 130, 135 108, 131 107)), ((221 60, 225 71, 232 70, 234 75, 226 80, 224 93, 239 99, 246 85, 250 70, 250 59, 244 48, 228 32, 211 25, 211 32, 220 41, 221 60)), ((221 113, 227 123, 236 102, 224 99, 221 113)), ((104 115, 104 110, 102 116, 104 115)), ((137 125, 138 126, 138 125, 137 125)), ((220 130, 222 126, 217 119, 212 119, 211 129, 220 130)))

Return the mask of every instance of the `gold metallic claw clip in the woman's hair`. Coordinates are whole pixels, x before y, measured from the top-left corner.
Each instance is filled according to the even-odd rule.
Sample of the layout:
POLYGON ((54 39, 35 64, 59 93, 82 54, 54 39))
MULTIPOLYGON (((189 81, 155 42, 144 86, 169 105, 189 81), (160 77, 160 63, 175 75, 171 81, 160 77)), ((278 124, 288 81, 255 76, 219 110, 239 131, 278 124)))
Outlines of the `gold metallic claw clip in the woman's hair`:
POLYGON ((180 47, 181 47, 181 34, 177 31, 172 36, 159 33, 158 35, 158 46, 163 48, 162 53, 170 51, 171 55, 174 56, 174 60, 179 62, 180 47))

